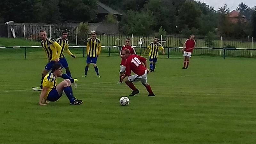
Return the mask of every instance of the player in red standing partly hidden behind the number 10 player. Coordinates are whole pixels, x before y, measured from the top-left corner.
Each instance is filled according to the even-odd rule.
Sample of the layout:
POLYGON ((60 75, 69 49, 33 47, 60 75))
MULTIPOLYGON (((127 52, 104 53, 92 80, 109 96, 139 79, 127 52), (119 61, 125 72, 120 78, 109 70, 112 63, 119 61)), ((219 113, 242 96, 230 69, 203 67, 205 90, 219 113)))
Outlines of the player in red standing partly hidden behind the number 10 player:
MULTIPOLYGON (((125 45, 122 47, 121 51, 120 51, 120 57, 122 58, 121 52, 124 49, 128 49, 130 51, 131 54, 137 54, 134 50, 134 48, 131 46, 131 39, 130 38, 126 38, 125 39, 125 45)), ((121 60, 121 64, 120 64, 120 80, 117 84, 121 84, 123 83, 123 81, 121 80, 121 77, 124 75, 125 72, 125 66, 126 66, 126 60, 124 58, 122 58, 121 60)))

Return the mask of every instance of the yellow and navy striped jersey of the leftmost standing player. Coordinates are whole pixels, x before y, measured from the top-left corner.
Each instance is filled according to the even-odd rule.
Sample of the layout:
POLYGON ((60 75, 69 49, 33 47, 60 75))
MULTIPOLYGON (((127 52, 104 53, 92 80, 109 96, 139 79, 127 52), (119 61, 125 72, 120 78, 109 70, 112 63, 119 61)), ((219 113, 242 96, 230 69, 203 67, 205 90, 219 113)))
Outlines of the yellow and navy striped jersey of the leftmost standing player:
POLYGON ((41 41, 48 61, 56 60, 60 57, 61 46, 54 39, 47 38, 45 42, 41 41))

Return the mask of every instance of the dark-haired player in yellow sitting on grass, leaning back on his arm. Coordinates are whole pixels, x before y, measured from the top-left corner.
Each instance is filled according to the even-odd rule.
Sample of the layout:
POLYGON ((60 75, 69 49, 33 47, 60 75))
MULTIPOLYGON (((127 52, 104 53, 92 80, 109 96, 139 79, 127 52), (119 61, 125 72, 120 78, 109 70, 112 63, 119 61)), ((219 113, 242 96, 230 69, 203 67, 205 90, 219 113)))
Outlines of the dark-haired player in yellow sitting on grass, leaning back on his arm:
POLYGON ((56 77, 62 77, 62 67, 60 63, 54 63, 52 66, 52 71, 44 77, 43 89, 39 98, 39 105, 46 105, 47 101, 59 100, 63 91, 67 95, 70 104, 82 104, 82 100, 77 100, 73 96, 73 91, 71 88, 71 81, 74 83, 77 81, 77 79, 66 79, 60 84, 56 85, 56 77))

